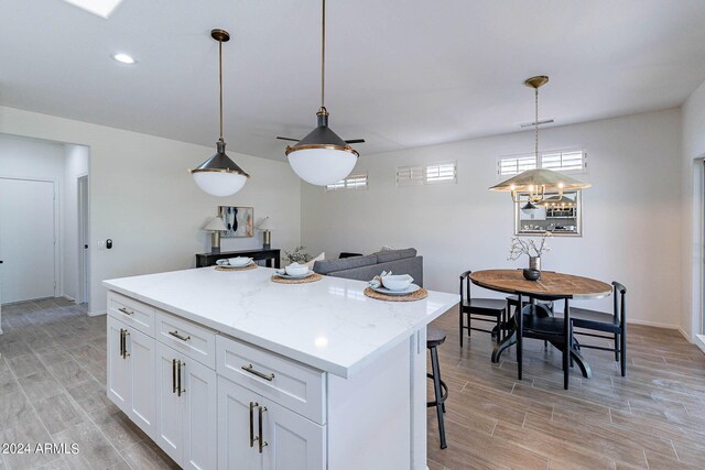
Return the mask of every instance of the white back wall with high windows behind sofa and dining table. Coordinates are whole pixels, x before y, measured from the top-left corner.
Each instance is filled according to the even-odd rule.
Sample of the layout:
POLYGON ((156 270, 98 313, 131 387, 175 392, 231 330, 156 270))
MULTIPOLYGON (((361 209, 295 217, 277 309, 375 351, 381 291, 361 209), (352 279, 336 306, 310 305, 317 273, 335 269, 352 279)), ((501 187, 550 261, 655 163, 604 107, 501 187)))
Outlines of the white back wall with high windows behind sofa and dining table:
MULTIPOLYGON (((587 151, 589 173, 577 177, 594 185, 583 194, 584 237, 553 238, 543 269, 620 281, 629 288, 631 320, 676 327, 679 142, 677 109, 543 130, 542 149, 587 151)), ((356 171, 369 173, 368 190, 302 185, 302 242, 312 254, 333 256, 415 247, 425 285, 446 292, 457 292, 464 270, 522 267, 525 259, 507 261, 511 199, 487 188, 497 182, 497 156, 532 147, 533 133, 519 132, 362 156, 356 171), (395 187, 397 166, 454 160, 457 185, 395 187)), ((609 300, 590 306, 609 308, 609 300)))

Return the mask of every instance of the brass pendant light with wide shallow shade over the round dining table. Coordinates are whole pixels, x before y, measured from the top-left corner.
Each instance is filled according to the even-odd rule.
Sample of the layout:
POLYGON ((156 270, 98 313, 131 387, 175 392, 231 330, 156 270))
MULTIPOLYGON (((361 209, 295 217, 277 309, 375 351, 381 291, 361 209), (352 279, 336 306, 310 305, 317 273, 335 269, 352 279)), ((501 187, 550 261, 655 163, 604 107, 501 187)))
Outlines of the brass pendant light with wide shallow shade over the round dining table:
MULTIPOLYGON (((531 77, 524 81, 524 85, 534 89, 535 116, 534 116, 534 155, 536 164, 539 163, 539 88, 549 83, 549 77, 540 75, 531 77)), ((522 209, 532 210, 534 204, 545 199, 546 190, 557 192, 558 198, 563 196, 564 190, 585 189, 590 187, 588 183, 583 183, 563 173, 552 170, 535 168, 527 170, 498 185, 490 187, 490 190, 511 192, 511 198, 514 203, 520 203, 519 193, 525 193, 529 204, 522 209)), ((525 199, 524 199, 525 200, 525 199)))

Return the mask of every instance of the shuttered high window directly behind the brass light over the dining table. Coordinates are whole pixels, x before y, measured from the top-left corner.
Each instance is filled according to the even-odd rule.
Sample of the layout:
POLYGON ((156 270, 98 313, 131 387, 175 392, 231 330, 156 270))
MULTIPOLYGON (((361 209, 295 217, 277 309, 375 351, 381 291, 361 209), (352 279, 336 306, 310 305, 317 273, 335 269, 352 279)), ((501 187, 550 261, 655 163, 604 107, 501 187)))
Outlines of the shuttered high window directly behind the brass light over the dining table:
POLYGON ((539 155, 500 156, 497 160, 497 176, 517 175, 536 167, 563 173, 585 173, 587 171, 587 154, 582 150, 544 152, 539 155))

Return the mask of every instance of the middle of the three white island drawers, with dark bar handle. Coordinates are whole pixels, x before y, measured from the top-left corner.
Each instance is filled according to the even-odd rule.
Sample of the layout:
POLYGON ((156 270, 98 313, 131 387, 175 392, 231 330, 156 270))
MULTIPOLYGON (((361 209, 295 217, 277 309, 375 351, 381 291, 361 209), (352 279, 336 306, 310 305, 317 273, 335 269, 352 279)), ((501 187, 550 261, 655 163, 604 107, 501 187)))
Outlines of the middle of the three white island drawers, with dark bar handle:
POLYGON ((216 368, 216 334, 208 328, 156 311, 156 339, 210 369, 216 368))

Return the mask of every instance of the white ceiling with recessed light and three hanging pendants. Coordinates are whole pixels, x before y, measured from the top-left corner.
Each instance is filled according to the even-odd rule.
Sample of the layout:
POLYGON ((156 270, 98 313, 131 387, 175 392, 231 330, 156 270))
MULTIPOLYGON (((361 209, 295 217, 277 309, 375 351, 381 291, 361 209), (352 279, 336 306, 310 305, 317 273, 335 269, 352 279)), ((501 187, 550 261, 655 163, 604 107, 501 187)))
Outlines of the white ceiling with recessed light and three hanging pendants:
MULTIPOLYGON (((360 154, 519 131, 533 75, 551 76, 555 125, 675 107, 705 80, 702 0, 340 0, 327 15, 330 127, 367 139, 360 154)), ((213 146, 224 28, 228 149, 284 160, 274 136, 315 124, 319 21, 316 0, 123 0, 108 20, 3 0, 0 103, 213 146)))

